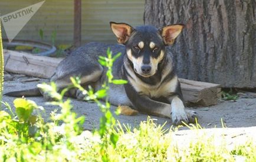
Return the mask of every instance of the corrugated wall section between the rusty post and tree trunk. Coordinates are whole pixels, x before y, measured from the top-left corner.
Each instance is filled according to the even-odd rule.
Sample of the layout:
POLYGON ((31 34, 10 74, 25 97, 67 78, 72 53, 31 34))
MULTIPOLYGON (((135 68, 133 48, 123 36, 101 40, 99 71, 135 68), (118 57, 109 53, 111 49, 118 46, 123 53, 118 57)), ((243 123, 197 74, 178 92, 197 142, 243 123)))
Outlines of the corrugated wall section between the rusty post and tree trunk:
POLYGON ((83 1, 83 40, 116 42, 109 22, 126 22, 137 26, 143 24, 144 0, 98 0, 83 1))

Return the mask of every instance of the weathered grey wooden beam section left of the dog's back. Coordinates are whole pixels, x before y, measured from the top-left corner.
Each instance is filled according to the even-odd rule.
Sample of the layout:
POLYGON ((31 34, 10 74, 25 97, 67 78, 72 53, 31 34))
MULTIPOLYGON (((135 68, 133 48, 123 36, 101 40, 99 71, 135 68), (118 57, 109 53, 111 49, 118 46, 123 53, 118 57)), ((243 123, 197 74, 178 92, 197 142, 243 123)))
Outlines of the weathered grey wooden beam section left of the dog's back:
POLYGON ((62 59, 4 50, 4 60, 7 72, 48 79, 62 59))

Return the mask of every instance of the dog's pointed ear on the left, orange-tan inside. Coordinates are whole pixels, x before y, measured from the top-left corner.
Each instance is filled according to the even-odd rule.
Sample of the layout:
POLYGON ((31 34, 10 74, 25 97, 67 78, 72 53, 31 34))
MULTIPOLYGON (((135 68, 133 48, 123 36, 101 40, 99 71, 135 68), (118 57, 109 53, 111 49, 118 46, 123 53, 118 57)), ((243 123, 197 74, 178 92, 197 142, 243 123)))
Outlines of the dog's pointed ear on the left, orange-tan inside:
POLYGON ((122 44, 128 41, 132 32, 134 31, 133 27, 127 23, 110 22, 110 27, 114 35, 117 37, 117 42, 122 44))

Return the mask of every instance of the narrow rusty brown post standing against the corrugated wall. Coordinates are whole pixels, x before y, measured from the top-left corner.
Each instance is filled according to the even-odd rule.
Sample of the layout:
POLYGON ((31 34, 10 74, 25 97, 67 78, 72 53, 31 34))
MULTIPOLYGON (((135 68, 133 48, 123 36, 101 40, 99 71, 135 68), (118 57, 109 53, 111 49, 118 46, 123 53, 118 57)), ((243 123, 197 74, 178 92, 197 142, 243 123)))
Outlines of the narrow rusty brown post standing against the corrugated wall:
POLYGON ((74 46, 81 46, 81 0, 74 0, 74 46))

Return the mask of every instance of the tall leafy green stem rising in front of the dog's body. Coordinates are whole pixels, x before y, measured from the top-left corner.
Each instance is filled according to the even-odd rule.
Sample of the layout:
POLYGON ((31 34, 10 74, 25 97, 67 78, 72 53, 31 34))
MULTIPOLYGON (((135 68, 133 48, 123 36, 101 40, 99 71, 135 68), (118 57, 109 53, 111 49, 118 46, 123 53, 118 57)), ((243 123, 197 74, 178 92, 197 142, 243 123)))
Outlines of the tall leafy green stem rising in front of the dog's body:
MULTIPOLYGON (((93 100, 97 103, 97 105, 100 107, 100 111, 103 113, 103 116, 100 118, 100 129, 99 134, 101 137, 101 140, 103 140, 103 143, 101 144, 101 160, 108 161, 109 157, 107 157, 107 143, 111 141, 111 144, 113 144, 113 147, 116 147, 116 143, 118 140, 118 136, 116 134, 116 131, 114 131, 113 126, 116 123, 116 120, 114 119, 112 113, 110 112, 110 103, 109 99, 107 97, 107 92, 109 90, 109 84, 113 83, 116 85, 120 84, 126 84, 126 80, 122 79, 114 79, 112 74, 112 66, 114 61, 120 57, 122 53, 117 53, 114 57, 112 57, 112 52, 110 51, 110 48, 107 49, 107 57, 100 56, 99 57, 99 63, 103 66, 107 67, 107 80, 102 85, 102 88, 94 93, 93 89, 89 86, 88 89, 84 89, 80 85, 80 81, 78 79, 71 78, 71 82, 75 87, 77 87, 83 94, 86 94, 87 96, 84 97, 84 100, 93 100), (105 103, 101 103, 99 99, 105 99, 105 103)), ((116 112, 118 113, 118 112, 116 112)))

